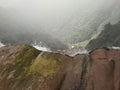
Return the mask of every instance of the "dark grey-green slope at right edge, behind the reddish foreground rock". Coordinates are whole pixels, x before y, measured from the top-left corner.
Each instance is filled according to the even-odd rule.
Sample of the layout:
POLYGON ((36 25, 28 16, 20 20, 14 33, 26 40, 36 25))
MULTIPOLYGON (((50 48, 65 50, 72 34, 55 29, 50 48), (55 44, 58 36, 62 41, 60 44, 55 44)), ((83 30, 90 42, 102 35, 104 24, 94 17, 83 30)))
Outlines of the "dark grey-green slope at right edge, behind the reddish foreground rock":
POLYGON ((87 45, 92 50, 99 47, 120 46, 120 22, 117 24, 106 24, 101 34, 87 45))

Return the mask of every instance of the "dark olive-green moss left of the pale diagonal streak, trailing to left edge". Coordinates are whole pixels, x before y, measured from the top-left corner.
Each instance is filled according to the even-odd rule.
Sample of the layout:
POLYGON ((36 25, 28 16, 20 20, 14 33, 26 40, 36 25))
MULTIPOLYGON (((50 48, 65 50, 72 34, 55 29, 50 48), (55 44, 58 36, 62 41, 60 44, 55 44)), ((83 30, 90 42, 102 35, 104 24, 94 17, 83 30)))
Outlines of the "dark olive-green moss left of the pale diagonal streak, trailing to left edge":
POLYGON ((16 53, 15 60, 11 63, 5 64, 1 67, 0 72, 2 75, 9 75, 14 72, 14 78, 23 78, 27 75, 29 67, 32 65, 33 60, 37 57, 40 51, 27 45, 21 47, 21 51, 16 53))

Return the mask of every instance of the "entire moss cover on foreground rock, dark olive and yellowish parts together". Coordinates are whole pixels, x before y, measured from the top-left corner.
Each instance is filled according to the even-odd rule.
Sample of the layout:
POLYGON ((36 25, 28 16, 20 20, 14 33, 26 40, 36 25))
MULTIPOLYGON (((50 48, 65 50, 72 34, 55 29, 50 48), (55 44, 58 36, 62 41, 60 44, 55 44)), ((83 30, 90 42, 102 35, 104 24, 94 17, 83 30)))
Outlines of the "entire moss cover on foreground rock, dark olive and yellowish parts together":
POLYGON ((27 79, 34 76, 46 78, 56 74, 62 63, 59 54, 40 52, 27 45, 23 45, 15 57, 15 60, 0 68, 2 76, 9 77, 12 73, 14 79, 27 79))

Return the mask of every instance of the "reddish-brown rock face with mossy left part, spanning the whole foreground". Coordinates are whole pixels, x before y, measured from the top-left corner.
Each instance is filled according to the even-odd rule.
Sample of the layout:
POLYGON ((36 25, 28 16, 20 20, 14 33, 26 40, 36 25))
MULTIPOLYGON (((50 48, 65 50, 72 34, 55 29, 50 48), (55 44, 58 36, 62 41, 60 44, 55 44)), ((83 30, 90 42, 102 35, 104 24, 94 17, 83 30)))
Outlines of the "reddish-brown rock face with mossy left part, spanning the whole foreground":
POLYGON ((120 51, 74 57, 27 45, 0 48, 0 90, 120 90, 120 51))

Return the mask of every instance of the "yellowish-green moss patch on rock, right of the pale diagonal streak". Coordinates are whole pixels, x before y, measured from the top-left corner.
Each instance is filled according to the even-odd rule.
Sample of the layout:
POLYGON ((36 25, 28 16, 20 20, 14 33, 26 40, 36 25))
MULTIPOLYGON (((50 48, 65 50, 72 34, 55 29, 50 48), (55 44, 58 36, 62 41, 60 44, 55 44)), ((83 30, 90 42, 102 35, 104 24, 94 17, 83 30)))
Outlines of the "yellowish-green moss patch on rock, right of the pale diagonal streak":
POLYGON ((41 53, 36 60, 34 60, 30 73, 38 74, 42 77, 52 76, 57 73, 61 65, 61 57, 52 53, 41 53))

